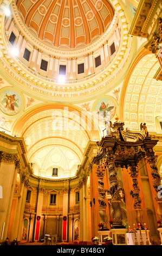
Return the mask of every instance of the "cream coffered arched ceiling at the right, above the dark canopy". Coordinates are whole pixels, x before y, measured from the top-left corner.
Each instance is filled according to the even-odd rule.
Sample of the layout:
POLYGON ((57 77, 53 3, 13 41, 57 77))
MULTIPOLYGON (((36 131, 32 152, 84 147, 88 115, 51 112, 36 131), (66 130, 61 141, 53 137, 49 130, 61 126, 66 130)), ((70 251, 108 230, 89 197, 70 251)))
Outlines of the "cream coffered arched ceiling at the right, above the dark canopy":
MULTIPOLYGON (((132 64, 133 66, 133 64, 132 64)), ((140 123, 146 123, 150 132, 157 132, 156 118, 162 118, 162 81, 154 76, 159 69, 154 54, 146 54, 132 69, 126 80, 122 118, 126 127, 140 130, 140 123)))

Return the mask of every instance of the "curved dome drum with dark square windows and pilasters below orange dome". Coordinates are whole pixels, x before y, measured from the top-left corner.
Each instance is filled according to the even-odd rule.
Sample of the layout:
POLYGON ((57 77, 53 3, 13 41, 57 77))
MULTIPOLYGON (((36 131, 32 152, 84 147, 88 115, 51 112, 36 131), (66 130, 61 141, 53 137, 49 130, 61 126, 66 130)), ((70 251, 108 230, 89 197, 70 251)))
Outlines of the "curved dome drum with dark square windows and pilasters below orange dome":
POLYGON ((30 41, 21 31, 18 31, 11 17, 5 20, 5 31, 11 48, 19 49, 17 58, 21 60, 22 65, 35 72, 35 75, 53 78, 57 83, 60 76, 63 76, 66 81, 80 80, 96 74, 105 67, 120 45, 118 22, 118 17, 115 15, 111 31, 113 36, 112 33, 107 33, 102 41, 99 40, 98 43, 87 47, 87 50, 71 51, 70 54, 67 51, 50 54, 46 48, 36 47, 34 41, 30 41))

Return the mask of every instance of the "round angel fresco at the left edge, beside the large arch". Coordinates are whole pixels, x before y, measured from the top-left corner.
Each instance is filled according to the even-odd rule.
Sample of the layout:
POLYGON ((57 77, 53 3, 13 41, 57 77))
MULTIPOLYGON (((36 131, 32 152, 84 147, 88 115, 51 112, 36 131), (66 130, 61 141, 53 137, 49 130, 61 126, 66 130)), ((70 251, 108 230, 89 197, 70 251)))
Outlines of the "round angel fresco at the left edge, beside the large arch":
POLYGON ((0 100, 0 108, 3 113, 13 115, 20 111, 21 99, 16 93, 12 91, 4 92, 0 100))

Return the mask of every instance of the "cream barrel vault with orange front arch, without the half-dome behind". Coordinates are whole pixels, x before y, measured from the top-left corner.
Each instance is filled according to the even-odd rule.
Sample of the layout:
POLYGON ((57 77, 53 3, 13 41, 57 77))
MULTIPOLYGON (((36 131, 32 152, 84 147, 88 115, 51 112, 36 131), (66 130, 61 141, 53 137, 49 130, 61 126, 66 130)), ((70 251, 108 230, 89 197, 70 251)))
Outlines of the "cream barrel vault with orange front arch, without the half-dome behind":
POLYGON ((57 104, 37 107, 23 115, 14 134, 25 139, 30 162, 35 161, 40 149, 49 147, 50 158, 51 149, 59 147, 61 150, 66 148, 81 163, 88 141, 99 139, 98 129, 94 129, 93 121, 86 114, 74 107, 57 104))

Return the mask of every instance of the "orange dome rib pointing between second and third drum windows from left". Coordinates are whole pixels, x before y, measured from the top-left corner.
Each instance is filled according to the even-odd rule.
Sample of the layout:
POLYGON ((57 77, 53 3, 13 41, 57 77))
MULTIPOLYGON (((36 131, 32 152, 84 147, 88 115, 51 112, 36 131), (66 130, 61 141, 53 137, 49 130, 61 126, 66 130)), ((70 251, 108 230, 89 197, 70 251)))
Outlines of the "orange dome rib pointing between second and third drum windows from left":
POLYGON ((46 26, 48 24, 49 17, 50 17, 50 15, 51 15, 54 7, 55 7, 56 2, 57 2, 57 0, 54 0, 54 1, 51 2, 50 7, 48 8, 46 15, 43 17, 43 21, 42 21, 41 26, 40 26, 39 31, 38 31, 38 36, 41 40, 44 39, 43 38, 44 37, 44 32, 46 31, 46 26))

